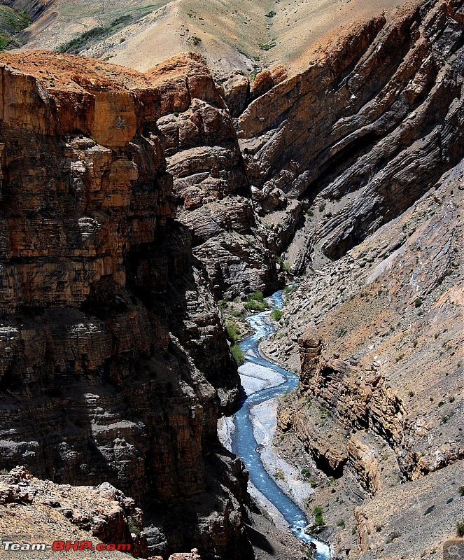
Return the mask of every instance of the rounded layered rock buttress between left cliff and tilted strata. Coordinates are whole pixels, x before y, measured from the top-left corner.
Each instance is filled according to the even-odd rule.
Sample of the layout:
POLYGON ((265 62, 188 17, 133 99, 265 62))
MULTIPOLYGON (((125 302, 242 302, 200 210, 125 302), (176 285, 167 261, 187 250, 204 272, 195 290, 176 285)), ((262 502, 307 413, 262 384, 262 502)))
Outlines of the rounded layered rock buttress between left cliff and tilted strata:
POLYGON ((229 109, 211 73, 195 55, 159 64, 147 75, 169 103, 157 128, 174 178, 178 219, 192 232, 217 297, 233 299, 282 285, 248 197, 248 179, 229 109))

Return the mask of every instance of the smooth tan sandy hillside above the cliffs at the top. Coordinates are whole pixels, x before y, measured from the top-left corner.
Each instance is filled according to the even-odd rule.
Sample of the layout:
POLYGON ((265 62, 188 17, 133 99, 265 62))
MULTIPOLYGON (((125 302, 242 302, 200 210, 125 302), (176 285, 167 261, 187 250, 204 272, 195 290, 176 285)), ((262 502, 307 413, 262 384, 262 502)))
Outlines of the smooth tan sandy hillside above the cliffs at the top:
POLYGON ((55 0, 24 33, 24 48, 58 49, 85 31, 107 27, 108 33, 83 41, 78 52, 145 71, 196 50, 219 75, 276 64, 293 73, 351 22, 397 5, 398 0, 55 0), (113 25, 120 18, 125 20, 113 25), (260 47, 274 43, 269 50, 260 47))

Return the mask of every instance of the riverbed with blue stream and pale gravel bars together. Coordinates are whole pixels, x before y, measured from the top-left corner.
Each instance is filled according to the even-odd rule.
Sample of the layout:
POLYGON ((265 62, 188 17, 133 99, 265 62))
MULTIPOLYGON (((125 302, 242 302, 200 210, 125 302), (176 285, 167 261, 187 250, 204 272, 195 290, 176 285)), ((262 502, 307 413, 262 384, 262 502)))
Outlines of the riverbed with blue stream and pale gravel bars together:
MULTIPOLYGON (((271 307, 283 307, 281 291, 267 300, 271 307)), ((298 479, 297 471, 283 461, 272 448, 277 399, 297 387, 298 377, 259 353, 260 340, 274 331, 274 326, 269 322, 269 311, 249 316, 248 323, 254 332, 240 342, 246 360, 244 365, 239 367, 241 401, 234 416, 223 423, 221 439, 243 459, 250 472, 251 493, 258 499, 261 498, 269 513, 274 513, 276 521, 280 518, 300 540, 314 542, 316 559, 329 559, 328 545, 304 533, 309 519, 300 505, 304 497, 311 493, 309 484, 298 479), (276 474, 277 480, 272 476, 276 474), (287 491, 281 487, 284 486, 283 479, 287 483, 287 491)))

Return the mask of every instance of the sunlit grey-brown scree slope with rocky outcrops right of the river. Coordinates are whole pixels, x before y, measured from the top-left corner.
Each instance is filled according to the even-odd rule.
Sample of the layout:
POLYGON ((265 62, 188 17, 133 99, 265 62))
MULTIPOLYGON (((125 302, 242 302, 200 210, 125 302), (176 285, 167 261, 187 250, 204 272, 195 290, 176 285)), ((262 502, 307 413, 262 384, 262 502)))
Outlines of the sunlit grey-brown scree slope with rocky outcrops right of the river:
POLYGON ((313 501, 324 505, 330 540, 353 557, 428 556, 455 535, 463 172, 461 162, 398 219, 310 274, 263 344, 288 368, 301 360, 299 391, 281 402, 279 428, 309 452, 313 501), (400 516, 393 504, 402 507, 403 496, 400 516), (413 496, 420 507, 407 501, 413 496), (423 526, 427 538, 412 535, 423 526))

